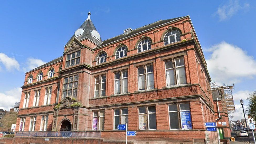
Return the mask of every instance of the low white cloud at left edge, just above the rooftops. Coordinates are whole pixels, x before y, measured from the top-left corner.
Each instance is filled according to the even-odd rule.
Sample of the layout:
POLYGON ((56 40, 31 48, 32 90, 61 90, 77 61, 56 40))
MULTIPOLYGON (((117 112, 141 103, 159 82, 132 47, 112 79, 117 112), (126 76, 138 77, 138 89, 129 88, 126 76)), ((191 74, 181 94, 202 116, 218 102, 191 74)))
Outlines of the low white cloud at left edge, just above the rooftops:
POLYGON ((6 92, 0 92, 0 109, 9 111, 14 107, 15 102, 20 101, 22 88, 13 88, 6 92))

